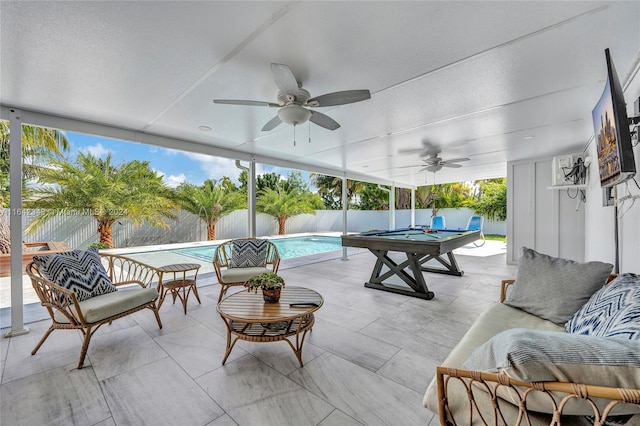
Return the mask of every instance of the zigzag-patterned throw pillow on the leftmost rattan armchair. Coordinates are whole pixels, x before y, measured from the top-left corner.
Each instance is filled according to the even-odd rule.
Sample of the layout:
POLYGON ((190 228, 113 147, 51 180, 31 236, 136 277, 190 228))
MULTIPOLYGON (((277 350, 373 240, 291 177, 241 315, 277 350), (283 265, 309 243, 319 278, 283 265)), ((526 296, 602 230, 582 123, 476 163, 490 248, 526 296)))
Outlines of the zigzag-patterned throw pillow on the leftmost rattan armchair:
POLYGON ((73 291, 79 301, 117 290, 97 249, 33 256, 33 261, 46 279, 73 291))

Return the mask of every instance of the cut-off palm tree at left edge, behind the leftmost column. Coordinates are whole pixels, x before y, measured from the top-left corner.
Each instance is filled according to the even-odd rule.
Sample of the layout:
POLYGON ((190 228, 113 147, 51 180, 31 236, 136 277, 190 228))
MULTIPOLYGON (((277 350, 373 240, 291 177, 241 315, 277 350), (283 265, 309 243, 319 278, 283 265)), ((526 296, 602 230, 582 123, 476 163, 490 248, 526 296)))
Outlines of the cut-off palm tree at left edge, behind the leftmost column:
MULTIPOLYGON (((4 214, 5 202, 9 201, 9 138, 11 130, 7 121, 0 120, 0 253, 11 252, 10 230, 4 214)), ((69 149, 69 141, 63 133, 43 127, 22 126, 22 175, 23 187, 27 179, 38 170, 39 159, 60 154, 69 149)))

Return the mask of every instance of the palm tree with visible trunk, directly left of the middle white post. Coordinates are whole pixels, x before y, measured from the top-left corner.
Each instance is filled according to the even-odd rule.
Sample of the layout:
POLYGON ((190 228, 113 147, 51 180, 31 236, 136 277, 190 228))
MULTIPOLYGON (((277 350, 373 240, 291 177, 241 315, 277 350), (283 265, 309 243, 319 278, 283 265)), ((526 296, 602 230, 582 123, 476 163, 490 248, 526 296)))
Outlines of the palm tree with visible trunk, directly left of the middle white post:
POLYGON ((229 188, 224 178, 220 184, 209 179, 202 186, 182 183, 176 188, 176 193, 180 206, 207 224, 207 240, 210 241, 216 239, 216 222, 220 218, 247 206, 246 195, 229 188))

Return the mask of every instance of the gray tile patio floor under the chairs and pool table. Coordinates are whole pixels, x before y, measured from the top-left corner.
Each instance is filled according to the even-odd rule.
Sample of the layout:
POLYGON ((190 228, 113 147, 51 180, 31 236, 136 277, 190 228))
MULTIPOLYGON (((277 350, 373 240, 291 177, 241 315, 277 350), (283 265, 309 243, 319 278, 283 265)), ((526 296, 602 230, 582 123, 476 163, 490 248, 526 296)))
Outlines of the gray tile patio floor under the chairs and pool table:
MULTIPOLYGON (((488 251, 487 251, 488 250, 488 251)), ((102 327, 76 370, 80 334, 56 331, 31 356, 48 322, 0 339, 2 425, 428 425, 422 396, 434 368, 515 276, 502 250, 457 254, 462 277, 426 273, 427 301, 366 289, 369 252, 287 265, 290 285, 321 293, 305 365, 284 342, 239 342, 220 364, 226 329, 219 285, 203 274, 202 305, 165 303, 102 327), (493 253, 493 254, 491 254, 493 253)), ((6 330, 5 330, 6 331, 6 330)))

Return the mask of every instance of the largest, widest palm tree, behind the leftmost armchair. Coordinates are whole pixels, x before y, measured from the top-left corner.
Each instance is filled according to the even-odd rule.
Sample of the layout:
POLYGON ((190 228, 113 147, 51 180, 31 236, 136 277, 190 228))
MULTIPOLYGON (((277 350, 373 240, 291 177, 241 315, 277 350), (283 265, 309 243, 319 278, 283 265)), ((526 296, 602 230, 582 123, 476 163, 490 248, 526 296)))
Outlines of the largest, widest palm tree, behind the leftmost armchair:
POLYGON ((27 227, 34 232, 57 215, 91 215, 98 222, 100 242, 113 247, 112 225, 129 219, 134 225, 150 223, 169 229, 166 218, 175 218, 177 204, 162 177, 147 161, 111 164, 90 154, 78 154, 76 164, 53 159, 51 167, 39 172, 41 187, 27 207, 42 209, 27 227))

